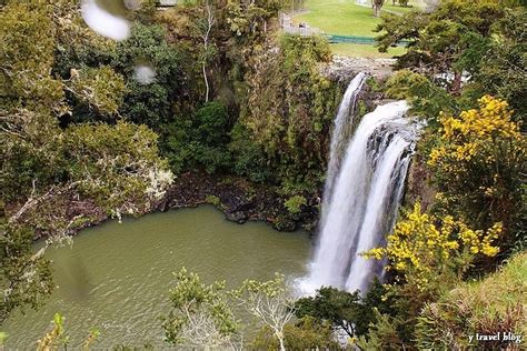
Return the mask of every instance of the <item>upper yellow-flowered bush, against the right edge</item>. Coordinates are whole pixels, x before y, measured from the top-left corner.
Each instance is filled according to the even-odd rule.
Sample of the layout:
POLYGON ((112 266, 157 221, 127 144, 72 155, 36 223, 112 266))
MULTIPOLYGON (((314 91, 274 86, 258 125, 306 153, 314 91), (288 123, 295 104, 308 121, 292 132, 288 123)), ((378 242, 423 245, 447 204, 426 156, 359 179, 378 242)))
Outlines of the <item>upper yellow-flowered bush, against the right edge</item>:
POLYGON ((427 160, 441 215, 456 213, 475 228, 501 222, 508 235, 505 247, 518 240, 520 232, 521 174, 527 164, 526 139, 511 117, 507 102, 490 96, 458 117, 441 113, 441 129, 427 160))

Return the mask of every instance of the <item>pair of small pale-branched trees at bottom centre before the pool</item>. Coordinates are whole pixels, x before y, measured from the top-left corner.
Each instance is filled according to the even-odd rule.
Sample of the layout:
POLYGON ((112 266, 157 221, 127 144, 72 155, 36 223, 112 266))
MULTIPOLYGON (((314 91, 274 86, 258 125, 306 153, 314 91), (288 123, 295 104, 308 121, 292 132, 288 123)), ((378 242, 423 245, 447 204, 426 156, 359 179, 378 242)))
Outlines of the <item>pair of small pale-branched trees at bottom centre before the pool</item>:
POLYGON ((169 342, 193 348, 242 348, 241 325, 235 317, 239 311, 255 318, 259 327, 272 330, 285 350, 286 325, 295 312, 284 277, 267 282, 246 280, 232 291, 225 291, 225 282, 206 285, 185 268, 176 278, 177 284, 170 290, 172 309, 163 322, 169 342))

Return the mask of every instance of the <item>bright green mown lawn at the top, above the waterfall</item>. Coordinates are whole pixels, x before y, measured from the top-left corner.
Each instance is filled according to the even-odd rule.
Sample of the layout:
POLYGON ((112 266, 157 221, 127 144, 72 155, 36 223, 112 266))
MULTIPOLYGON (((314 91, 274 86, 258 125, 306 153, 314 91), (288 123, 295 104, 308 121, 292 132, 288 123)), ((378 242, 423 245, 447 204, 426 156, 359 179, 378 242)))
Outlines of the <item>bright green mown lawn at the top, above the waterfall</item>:
MULTIPOLYGON (((419 6, 420 0, 410 1, 411 6, 419 6)), ((327 34, 375 37, 374 29, 380 19, 374 17, 374 10, 355 3, 355 0, 306 0, 305 12, 295 16, 295 23, 306 22, 310 27, 319 28, 327 34)), ((412 8, 392 6, 390 0, 384 7, 386 10, 404 13, 412 8)), ((341 56, 389 58, 400 54, 404 48, 390 49, 380 53, 377 48, 367 44, 336 43, 331 44, 334 53, 341 56)))

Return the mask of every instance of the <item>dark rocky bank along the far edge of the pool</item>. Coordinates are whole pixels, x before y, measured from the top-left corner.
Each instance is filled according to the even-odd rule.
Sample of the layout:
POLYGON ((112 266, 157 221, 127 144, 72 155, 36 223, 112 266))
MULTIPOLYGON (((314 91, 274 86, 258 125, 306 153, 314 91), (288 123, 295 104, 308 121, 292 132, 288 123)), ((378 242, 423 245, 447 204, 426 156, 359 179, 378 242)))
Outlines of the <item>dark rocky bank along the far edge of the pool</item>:
MULTIPOLYGON (((279 231, 305 229, 312 232, 317 228, 321 193, 306 193, 304 197, 305 204, 299 207, 298 212, 291 213, 285 207, 287 198, 278 194, 271 185, 255 184, 240 177, 188 172, 177 176, 163 198, 145 207, 135 217, 209 203, 223 212, 227 220, 239 224, 264 221, 279 231)), ((53 220, 60 223, 58 230, 53 228, 53 234, 74 235, 82 229, 121 217, 108 213, 93 199, 79 197, 72 191, 57 191, 41 199, 32 211, 18 219, 34 229, 34 240, 46 238, 51 232, 48 221, 39 218, 39 208, 48 207, 53 208, 53 220)), ((20 204, 12 203, 6 212, 14 213, 19 208, 20 204)))

